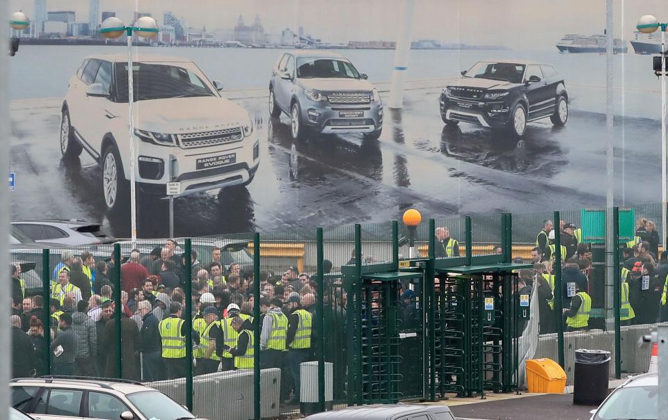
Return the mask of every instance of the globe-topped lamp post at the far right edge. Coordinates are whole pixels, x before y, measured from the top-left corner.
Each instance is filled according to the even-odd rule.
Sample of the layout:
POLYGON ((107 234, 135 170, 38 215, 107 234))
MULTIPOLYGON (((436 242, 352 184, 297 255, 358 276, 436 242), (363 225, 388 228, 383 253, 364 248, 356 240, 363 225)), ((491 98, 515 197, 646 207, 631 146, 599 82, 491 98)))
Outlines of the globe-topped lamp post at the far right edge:
POLYGON ((644 15, 638 19, 636 29, 642 33, 653 33, 661 29, 661 225, 663 249, 666 249, 666 26, 660 24, 652 15, 644 15))

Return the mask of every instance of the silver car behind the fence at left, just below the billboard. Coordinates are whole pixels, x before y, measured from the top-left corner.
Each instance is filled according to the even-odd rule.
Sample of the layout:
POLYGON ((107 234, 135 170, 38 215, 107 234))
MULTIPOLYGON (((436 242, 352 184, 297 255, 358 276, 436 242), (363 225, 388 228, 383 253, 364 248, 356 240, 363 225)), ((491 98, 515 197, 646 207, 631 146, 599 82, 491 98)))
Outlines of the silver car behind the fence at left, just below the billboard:
POLYGON ((21 220, 12 226, 37 243, 60 245, 97 245, 116 239, 102 232, 99 223, 83 220, 21 220))

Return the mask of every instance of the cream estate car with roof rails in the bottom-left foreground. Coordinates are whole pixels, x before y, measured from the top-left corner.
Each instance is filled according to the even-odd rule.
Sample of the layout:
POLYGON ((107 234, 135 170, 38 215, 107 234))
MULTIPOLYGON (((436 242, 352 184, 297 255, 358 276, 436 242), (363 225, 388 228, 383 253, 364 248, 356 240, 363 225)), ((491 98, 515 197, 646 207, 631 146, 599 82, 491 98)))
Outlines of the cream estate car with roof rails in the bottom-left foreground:
POLYGON ((12 380, 12 406, 42 420, 196 419, 165 394, 132 380, 67 377, 12 380))

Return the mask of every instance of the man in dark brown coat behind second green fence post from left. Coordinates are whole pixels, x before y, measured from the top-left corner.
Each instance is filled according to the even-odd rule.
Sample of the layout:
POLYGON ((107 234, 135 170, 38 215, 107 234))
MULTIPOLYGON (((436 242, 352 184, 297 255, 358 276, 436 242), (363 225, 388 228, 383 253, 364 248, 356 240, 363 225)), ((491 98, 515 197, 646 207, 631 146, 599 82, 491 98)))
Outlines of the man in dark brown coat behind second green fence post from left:
MULTIPOLYGON (((139 328, 137 328, 137 323, 132 321, 125 315, 125 312, 121 313, 120 318, 120 334, 123 338, 123 344, 121 348, 121 355, 123 358, 122 363, 122 378, 139 380, 139 328)), ((104 331, 102 332, 102 342, 106 344, 106 376, 109 378, 118 378, 118 373, 116 372, 116 359, 118 358, 118 353, 116 352, 116 321, 113 319, 104 325, 104 331)))

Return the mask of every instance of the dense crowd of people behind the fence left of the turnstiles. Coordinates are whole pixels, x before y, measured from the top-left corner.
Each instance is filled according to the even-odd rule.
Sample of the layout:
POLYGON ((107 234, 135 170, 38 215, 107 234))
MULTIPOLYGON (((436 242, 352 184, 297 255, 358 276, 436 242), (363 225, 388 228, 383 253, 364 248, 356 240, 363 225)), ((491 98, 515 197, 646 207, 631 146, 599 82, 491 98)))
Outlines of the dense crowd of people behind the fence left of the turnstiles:
MULTIPOLYGON (((192 320, 194 373, 253 369, 260 342, 262 369, 281 369, 281 398, 299 398, 301 362, 314 357, 312 337, 316 284, 294 267, 276 275, 232 262, 224 266, 221 248, 209 261, 177 254, 176 241, 148 255, 137 249, 120 266, 120 291, 113 261, 95 261, 89 252, 69 250, 51 273, 50 307, 41 295, 26 297, 20 265, 12 266, 13 376, 47 373, 155 381, 185 377, 185 319, 192 320), (192 313, 186 314, 186 278, 191 276, 192 313), (255 281, 260 282, 260 318, 253 318, 255 281), (120 293, 122 346, 117 346, 116 293, 120 293), (48 323, 48 324, 47 324, 48 323), (260 335, 255 336, 259 323, 260 335), (45 325, 50 326, 47 351, 45 325), (50 360, 47 360, 50 359, 50 360)), ((328 262, 328 261, 326 261, 328 262)), ((329 264, 331 268, 331 264, 329 264)))

